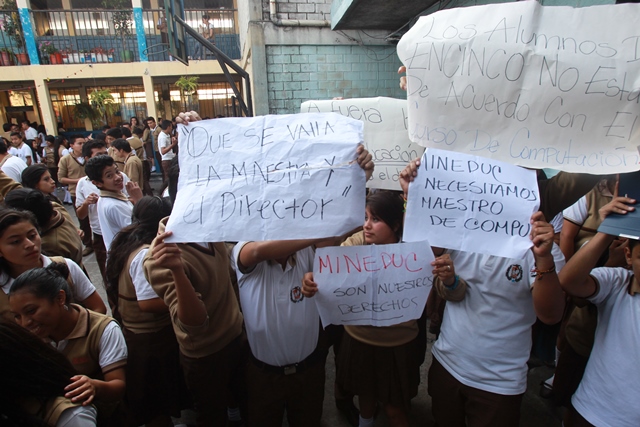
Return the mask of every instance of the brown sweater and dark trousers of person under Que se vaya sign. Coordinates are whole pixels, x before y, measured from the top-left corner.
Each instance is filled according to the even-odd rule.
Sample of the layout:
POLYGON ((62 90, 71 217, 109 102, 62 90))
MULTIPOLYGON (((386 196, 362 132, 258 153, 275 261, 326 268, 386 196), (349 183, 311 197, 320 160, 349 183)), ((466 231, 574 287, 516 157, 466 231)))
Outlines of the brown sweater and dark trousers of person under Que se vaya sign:
MULTIPOLYGON (((164 232, 166 221, 160 222, 159 233, 164 232)), ((241 378, 245 361, 242 314, 229 278, 229 255, 224 243, 178 246, 184 271, 207 310, 202 325, 185 325, 178 318, 173 275, 156 264, 151 256, 153 243, 144 259, 145 276, 169 307, 198 425, 224 425, 227 395, 234 381, 241 378)))

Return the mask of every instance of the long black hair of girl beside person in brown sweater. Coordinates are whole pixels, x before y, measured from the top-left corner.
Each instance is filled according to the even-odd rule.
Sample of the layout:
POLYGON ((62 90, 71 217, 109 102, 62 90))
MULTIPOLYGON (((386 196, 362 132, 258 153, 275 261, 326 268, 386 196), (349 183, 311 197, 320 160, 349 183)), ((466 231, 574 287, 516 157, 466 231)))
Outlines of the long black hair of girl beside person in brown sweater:
MULTIPOLYGON (((160 197, 144 196, 133 206, 131 225, 120 230, 111 243, 107 263, 107 291, 117 301, 120 273, 128 268, 131 253, 143 244, 151 244, 158 234, 158 223, 171 214, 171 203, 160 197)), ((116 304, 117 305, 117 304, 116 304)))

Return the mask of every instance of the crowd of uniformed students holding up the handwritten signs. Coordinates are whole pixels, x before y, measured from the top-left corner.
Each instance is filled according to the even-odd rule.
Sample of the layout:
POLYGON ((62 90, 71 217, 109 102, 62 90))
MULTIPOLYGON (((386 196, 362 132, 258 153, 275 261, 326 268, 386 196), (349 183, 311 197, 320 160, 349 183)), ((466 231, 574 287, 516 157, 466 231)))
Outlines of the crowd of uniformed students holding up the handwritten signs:
MULTIPOLYGON (((198 119, 195 113, 179 116, 181 122, 198 119)), ((402 193, 366 195, 363 226, 347 236, 175 244, 166 241, 166 224, 176 197, 177 161, 166 170, 170 200, 143 197, 138 184, 125 183, 119 141, 109 140, 111 155, 97 139, 71 144, 84 159, 74 154, 71 161, 86 174, 75 182, 78 214, 93 218, 94 237, 99 227, 108 251, 103 275, 117 322, 104 314, 81 260, 59 257, 56 247, 42 253, 41 223, 53 218, 38 219, 40 208, 32 208, 32 199, 42 198, 33 192, 42 190, 15 197, 24 189, 0 174, 0 314, 9 319, 0 323, 0 346, 9 346, 0 349, 0 361, 15 366, 6 375, 14 392, 0 403, 3 421, 170 426, 172 416, 193 408, 199 426, 280 426, 285 413, 291 426, 320 426, 325 361, 333 346, 336 405, 348 421, 372 426, 382 410, 390 425, 409 425, 410 401, 424 380, 419 367, 426 351, 424 320, 431 313, 389 327, 323 329, 313 300, 322 289, 312 271, 318 247, 402 241, 408 187, 419 174, 419 160, 401 173, 402 193), (78 194, 81 183, 94 186, 88 196, 78 194), (51 356, 52 348, 66 358, 51 356)), ((371 155, 360 146, 356 156, 369 177, 371 155)), ((567 317, 567 296, 593 303, 598 319, 565 425, 640 425, 634 405, 640 391, 634 369, 640 245, 613 243, 623 265, 593 269, 615 240, 593 232, 565 265, 557 230, 548 222, 584 203, 599 180, 564 172, 539 176, 541 206, 531 217, 532 249, 524 259, 432 248, 432 297, 446 301, 426 379, 437 425, 518 425, 531 328, 536 319, 557 324, 567 317)), ((635 203, 617 197, 614 187, 598 215, 624 214, 635 203)), ((593 213, 593 203, 588 206, 593 213)))

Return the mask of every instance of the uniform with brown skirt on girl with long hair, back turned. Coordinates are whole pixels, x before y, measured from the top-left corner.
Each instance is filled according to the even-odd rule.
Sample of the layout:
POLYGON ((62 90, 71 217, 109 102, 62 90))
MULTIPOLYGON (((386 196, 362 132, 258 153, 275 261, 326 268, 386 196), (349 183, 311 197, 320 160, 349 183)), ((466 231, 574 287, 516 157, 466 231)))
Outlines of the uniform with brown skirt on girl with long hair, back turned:
POLYGON ((190 403, 169 313, 147 313, 138 305, 158 298, 144 277, 148 247, 141 245, 129 255, 118 281, 118 313, 129 349, 125 399, 131 425, 158 415, 179 416, 190 403))

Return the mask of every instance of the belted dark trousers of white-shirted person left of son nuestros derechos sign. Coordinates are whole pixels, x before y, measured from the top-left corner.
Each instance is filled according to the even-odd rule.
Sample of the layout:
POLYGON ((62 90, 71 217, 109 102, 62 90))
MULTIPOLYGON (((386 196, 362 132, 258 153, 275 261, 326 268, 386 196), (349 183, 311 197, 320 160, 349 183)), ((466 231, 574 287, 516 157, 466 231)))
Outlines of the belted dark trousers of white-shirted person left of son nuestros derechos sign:
POLYGON ((291 427, 320 427, 324 401, 324 357, 302 372, 285 375, 247 365, 249 423, 252 426, 280 427, 285 409, 291 427))

